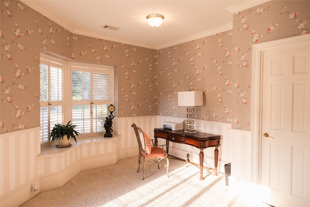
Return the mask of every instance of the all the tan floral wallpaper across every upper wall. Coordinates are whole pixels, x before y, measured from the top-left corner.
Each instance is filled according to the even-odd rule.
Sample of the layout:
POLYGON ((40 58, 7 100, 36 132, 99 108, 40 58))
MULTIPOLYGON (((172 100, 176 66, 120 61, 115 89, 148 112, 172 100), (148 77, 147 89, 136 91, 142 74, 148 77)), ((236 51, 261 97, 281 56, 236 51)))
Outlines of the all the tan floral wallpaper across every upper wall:
POLYGON ((309 8, 268 1, 233 14, 231 31, 154 50, 74 34, 18 0, 1 0, 0 133, 40 126, 40 51, 113 65, 117 117, 185 118, 177 92, 201 90, 197 120, 249 130, 252 45, 309 33, 309 8))

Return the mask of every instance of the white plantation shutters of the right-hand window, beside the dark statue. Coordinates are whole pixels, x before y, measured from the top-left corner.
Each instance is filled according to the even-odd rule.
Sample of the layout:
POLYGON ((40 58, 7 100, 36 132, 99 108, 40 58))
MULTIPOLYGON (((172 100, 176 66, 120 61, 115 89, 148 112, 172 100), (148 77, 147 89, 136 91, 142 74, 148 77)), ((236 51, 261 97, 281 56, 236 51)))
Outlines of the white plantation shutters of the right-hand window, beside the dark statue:
POLYGON ((103 132, 111 101, 110 69, 71 66, 72 122, 81 134, 103 132))

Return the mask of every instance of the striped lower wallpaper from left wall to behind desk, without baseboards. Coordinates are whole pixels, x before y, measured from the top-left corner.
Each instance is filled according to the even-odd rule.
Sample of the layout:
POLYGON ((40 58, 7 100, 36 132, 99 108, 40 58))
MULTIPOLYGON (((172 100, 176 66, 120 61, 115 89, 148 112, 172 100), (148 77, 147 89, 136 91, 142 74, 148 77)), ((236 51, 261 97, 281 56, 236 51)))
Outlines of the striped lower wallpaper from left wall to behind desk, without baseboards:
MULTIPOLYGON (((184 119, 165 116, 115 117, 113 120, 115 139, 107 142, 81 143, 79 147, 71 147, 65 153, 56 154, 41 153, 40 127, 0 134, 0 196, 7 198, 11 196, 12 191, 21 188, 25 183, 30 184, 33 179, 62 172, 81 159, 96 158, 103 154, 116 155, 115 159, 135 156, 136 150, 138 153, 138 143, 131 127, 132 123, 141 127, 152 138, 154 128, 161 127, 163 121, 182 122, 184 119)), ((202 132, 220 135, 219 161, 223 163, 231 161, 230 124, 195 120, 195 128, 202 132)), ((163 139, 158 141, 159 144, 165 143, 163 139)), ((178 143, 170 143, 170 149, 171 153, 174 152, 172 149, 177 153, 179 150, 182 156, 186 152, 194 154, 195 151, 199 151, 197 148, 178 143)), ((214 149, 206 149, 204 154, 212 160, 214 149)))

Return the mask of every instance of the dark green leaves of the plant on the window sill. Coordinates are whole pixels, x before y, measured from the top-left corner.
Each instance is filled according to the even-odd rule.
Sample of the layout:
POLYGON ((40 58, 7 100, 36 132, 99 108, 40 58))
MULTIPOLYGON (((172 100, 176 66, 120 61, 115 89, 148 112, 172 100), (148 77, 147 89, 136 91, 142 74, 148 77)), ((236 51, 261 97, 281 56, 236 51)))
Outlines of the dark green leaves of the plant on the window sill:
POLYGON ((77 125, 72 125, 70 122, 71 120, 66 125, 55 124, 55 127, 49 133, 49 140, 61 140, 64 136, 67 136, 68 140, 71 137, 77 142, 76 135, 78 136, 79 132, 74 129, 77 125))

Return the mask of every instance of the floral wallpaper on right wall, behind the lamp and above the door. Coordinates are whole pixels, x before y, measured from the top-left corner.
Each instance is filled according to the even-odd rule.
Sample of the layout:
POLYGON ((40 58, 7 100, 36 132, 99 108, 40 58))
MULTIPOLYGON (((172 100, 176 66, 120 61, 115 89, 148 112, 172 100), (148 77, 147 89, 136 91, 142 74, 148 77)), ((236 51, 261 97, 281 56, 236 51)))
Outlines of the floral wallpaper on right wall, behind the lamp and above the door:
POLYGON ((310 1, 268 1, 233 14, 232 31, 158 50, 158 114, 186 117, 177 92, 201 90, 196 119, 250 130, 252 45, 308 34, 309 18, 310 1))

